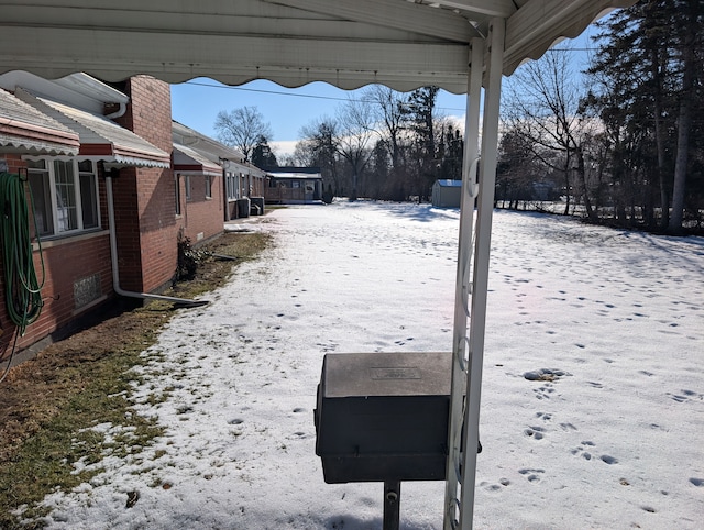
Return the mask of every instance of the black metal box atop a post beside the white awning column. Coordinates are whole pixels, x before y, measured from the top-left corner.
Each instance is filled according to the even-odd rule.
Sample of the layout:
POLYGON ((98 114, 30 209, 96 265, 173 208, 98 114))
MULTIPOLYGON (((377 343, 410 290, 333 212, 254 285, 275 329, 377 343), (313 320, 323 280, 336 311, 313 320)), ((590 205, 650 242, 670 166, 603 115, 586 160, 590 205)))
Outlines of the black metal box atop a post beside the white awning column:
POLYGON ((328 484, 444 481, 450 353, 331 353, 318 386, 316 454, 328 484))

